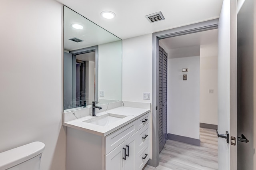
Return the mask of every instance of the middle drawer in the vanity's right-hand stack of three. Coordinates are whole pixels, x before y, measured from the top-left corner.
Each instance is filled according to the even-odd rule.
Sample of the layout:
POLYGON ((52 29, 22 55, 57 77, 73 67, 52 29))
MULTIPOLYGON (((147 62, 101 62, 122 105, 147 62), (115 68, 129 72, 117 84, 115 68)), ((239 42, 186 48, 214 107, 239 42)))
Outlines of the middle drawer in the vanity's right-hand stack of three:
POLYGON ((150 123, 148 123, 147 125, 145 125, 143 128, 141 128, 140 130, 138 130, 138 132, 136 133, 136 150, 138 152, 140 152, 140 150, 148 143, 148 141, 150 140, 150 132, 149 132, 149 126, 150 123))

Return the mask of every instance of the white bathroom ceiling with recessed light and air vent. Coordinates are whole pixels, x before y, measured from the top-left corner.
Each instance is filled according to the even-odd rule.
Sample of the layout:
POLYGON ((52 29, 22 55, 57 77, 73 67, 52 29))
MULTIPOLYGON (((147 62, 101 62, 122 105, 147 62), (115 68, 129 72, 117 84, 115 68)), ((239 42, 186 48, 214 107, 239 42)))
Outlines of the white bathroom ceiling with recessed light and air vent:
POLYGON ((121 39, 218 18, 223 0, 56 0, 121 39), (112 11, 112 20, 100 16, 112 11), (165 20, 150 24, 146 15, 161 11, 165 20))

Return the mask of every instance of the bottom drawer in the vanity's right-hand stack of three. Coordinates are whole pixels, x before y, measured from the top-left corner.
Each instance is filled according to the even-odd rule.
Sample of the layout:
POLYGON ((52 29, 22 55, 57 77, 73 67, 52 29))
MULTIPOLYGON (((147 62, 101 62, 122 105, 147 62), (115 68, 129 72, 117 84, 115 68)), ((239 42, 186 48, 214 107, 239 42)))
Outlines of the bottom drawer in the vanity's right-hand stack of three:
POLYGON ((135 169, 142 169, 145 164, 148 162, 150 158, 150 150, 149 150, 149 142, 140 150, 140 152, 136 155, 136 164, 135 164, 135 169))

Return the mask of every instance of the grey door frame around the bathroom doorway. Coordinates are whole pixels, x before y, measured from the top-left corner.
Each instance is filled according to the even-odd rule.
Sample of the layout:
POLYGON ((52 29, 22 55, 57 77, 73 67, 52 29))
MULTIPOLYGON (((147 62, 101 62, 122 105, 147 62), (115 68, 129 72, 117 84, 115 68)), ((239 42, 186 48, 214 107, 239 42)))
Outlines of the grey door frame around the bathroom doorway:
POLYGON ((196 32, 202 32, 207 30, 213 30, 218 28, 218 18, 213 20, 208 20, 204 22, 199 22, 196 24, 190 24, 187 26, 182 26, 178 28, 173 28, 170 30, 164 30, 152 34, 153 43, 152 43, 152 156, 148 161, 148 165, 157 167, 159 165, 159 140, 158 140, 158 127, 159 127, 159 117, 158 110, 156 110, 158 97, 158 60, 159 60, 159 40, 164 38, 182 36, 185 34, 192 34, 196 32))

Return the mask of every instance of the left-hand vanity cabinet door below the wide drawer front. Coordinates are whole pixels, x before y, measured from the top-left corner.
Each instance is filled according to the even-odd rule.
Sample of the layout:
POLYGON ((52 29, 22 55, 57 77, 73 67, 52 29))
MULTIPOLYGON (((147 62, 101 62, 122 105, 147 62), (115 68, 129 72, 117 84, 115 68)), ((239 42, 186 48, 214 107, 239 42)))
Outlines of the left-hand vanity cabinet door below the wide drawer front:
MULTIPOLYGON (((105 156, 105 170, 124 170, 124 142, 105 156)), ((127 154, 127 149, 126 149, 127 154)), ((127 158, 127 156, 126 156, 127 158)))

